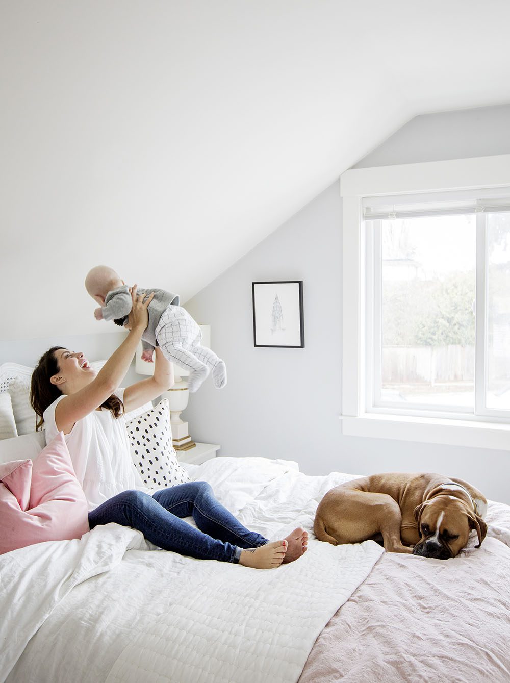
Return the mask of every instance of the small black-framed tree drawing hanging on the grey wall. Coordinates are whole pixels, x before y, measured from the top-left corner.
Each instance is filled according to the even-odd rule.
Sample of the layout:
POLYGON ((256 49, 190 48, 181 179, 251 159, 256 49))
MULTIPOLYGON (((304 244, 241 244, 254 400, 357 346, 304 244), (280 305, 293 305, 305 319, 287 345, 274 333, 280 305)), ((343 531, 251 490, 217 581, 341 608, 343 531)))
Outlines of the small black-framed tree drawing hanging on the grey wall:
POLYGON ((304 348, 303 283, 252 282, 253 346, 304 348))

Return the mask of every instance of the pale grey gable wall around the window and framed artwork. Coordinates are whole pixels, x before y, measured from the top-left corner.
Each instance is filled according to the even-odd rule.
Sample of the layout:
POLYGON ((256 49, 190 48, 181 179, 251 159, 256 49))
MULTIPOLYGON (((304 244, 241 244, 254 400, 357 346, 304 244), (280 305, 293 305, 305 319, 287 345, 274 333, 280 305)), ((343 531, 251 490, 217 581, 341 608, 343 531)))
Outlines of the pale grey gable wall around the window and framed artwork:
MULTIPOLYGON (((417 117, 360 166, 510 152, 510 105, 417 117)), ((227 363, 222 390, 208 380, 184 417, 197 441, 225 456, 297 460, 324 474, 438 471, 510 503, 505 451, 440 447, 341 434, 341 198, 339 183, 302 209, 186 303, 210 323, 227 363), (254 348, 251 282, 304 281, 304 349, 254 348)))

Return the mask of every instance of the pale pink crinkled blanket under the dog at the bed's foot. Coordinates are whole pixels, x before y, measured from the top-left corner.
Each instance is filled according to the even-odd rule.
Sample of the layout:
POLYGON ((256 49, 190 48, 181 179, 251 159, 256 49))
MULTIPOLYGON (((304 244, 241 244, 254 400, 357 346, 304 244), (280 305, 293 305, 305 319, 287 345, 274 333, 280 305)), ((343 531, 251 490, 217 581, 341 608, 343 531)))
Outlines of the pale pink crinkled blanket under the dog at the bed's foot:
POLYGON ((494 538, 450 560, 383 555, 315 641, 299 683, 509 683, 510 507, 491 503, 487 522, 494 538))

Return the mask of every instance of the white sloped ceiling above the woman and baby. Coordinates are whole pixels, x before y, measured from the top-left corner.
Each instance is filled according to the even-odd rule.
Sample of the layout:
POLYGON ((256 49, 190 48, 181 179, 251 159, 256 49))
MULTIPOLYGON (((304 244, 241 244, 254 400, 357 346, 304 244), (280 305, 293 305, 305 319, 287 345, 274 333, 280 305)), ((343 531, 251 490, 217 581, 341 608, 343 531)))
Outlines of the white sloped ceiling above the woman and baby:
POLYGON ((414 115, 510 101, 506 0, 1 4, 3 339, 201 290, 414 115))

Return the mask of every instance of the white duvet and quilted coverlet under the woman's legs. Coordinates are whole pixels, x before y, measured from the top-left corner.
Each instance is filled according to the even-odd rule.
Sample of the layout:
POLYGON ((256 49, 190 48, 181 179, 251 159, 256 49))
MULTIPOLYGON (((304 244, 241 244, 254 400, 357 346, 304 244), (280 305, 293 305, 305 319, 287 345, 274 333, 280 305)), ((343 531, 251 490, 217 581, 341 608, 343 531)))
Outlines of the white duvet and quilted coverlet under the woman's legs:
MULTIPOLYGON (((311 531, 324 493, 352 478, 265 458, 216 458, 190 473, 272 539, 311 531)), ((0 681, 297 681, 382 553, 313 539, 298 561, 261 571, 150 550, 113 524, 16 550, 0 556, 0 681)))

